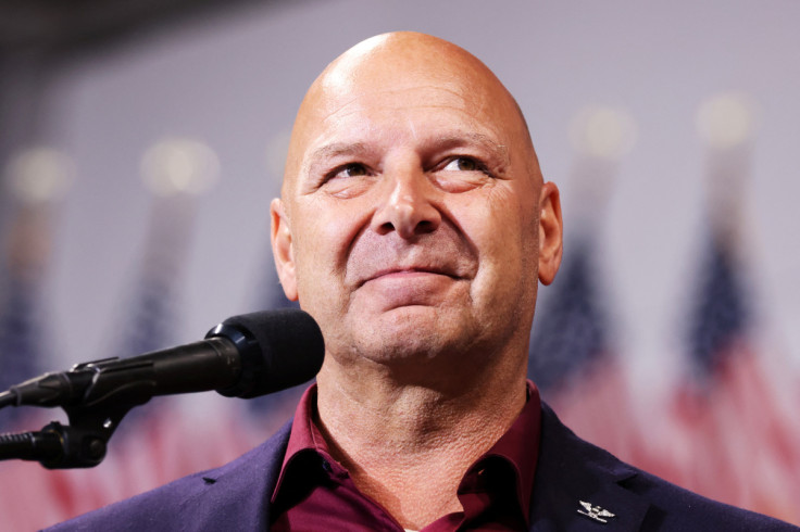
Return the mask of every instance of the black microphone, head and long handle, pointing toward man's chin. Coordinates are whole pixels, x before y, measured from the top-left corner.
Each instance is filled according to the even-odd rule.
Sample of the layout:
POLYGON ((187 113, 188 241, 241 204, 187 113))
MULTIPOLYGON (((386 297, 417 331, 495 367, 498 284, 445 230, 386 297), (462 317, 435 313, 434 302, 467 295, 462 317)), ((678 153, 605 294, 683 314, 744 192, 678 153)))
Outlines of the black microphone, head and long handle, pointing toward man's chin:
POLYGON ((207 390, 250 398, 311 380, 324 354, 322 331, 309 314, 257 312, 226 319, 200 342, 45 373, 0 393, 0 406, 135 406, 153 395, 207 390))

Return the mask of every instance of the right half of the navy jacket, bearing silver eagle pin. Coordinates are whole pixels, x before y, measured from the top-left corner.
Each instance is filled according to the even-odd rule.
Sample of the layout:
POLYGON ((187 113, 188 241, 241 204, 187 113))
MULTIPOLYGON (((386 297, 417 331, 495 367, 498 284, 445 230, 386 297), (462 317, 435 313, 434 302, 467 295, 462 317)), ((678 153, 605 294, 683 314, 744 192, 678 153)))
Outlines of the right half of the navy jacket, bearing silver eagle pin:
POLYGON ((625 464, 575 435, 542 403, 530 530, 585 530, 597 525, 583 504, 614 515, 604 525, 608 531, 800 530, 703 497, 625 464))

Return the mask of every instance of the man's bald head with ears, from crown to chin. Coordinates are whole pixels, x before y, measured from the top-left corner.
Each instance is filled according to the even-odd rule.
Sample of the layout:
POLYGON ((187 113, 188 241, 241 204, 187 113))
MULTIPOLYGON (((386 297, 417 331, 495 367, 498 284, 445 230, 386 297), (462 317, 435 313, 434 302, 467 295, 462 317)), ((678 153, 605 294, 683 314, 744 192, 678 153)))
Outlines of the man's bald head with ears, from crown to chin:
POLYGON ((396 33, 328 65, 272 218, 284 290, 328 358, 409 375, 503 354, 524 367, 537 277, 561 259, 558 189, 516 102, 465 50, 396 33))

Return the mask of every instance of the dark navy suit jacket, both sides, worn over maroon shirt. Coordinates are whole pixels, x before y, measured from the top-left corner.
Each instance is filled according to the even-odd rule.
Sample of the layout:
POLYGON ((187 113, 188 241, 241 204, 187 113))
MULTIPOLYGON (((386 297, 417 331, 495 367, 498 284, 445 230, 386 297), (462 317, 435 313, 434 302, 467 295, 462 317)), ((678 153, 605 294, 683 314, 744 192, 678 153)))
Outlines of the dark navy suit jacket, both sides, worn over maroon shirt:
MULTIPOLYGON (((185 477, 107 506, 52 530, 268 530, 290 423, 221 468, 185 477)), ((701 497, 646 473, 577 438, 542 404, 541 443, 530 506, 530 531, 800 530, 701 497), (601 507, 603 523, 579 514, 601 507)), ((598 512, 600 510, 597 510, 598 512)), ((590 512, 590 511, 589 511, 590 512)))

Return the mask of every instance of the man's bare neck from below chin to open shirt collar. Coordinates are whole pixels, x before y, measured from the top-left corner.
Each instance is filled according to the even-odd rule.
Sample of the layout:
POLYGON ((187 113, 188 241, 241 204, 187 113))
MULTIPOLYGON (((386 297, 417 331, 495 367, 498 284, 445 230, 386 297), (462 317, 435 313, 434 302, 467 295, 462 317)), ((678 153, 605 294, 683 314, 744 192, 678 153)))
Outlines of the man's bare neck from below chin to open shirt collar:
POLYGON ((409 383, 385 366, 353 369, 326 357, 317 377, 320 429, 362 493, 418 530, 462 509, 462 477, 524 407, 524 360, 508 366, 409 383))

